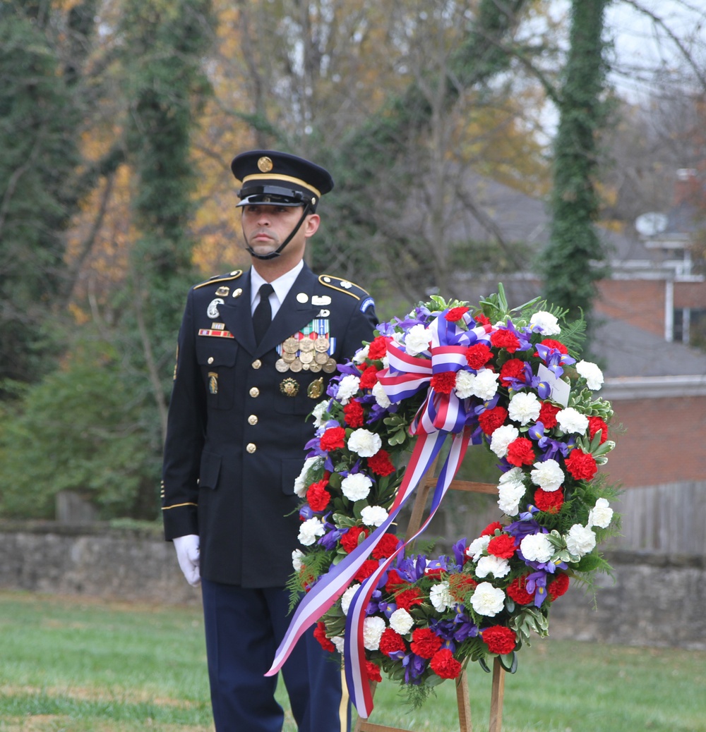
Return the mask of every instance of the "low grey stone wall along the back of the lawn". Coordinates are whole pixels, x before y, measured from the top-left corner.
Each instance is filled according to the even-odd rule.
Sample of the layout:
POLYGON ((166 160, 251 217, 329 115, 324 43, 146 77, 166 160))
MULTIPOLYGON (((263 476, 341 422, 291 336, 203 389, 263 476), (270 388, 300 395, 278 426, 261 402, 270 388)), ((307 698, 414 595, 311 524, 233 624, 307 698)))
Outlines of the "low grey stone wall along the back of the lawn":
MULTIPOLYGON (((0 589, 149 603, 198 603, 158 531, 0 522, 0 589)), ((596 602, 572 586, 551 609, 552 638, 706 649, 706 557, 614 551, 596 602)))

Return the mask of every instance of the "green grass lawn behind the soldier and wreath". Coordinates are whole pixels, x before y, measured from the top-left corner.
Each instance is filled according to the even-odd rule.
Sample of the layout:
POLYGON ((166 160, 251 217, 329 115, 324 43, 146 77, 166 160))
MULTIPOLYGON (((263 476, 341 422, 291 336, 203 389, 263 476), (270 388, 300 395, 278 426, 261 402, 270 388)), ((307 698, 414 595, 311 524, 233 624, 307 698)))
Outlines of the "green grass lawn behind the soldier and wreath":
MULTIPOLYGON (((469 669, 474 732, 490 680, 469 669)), ((383 681, 370 721, 455 731, 455 689, 413 711, 383 681)), ((0 592, 0 732, 144 729, 213 730, 199 608, 0 592)), ((706 652, 537 639, 506 676, 503 730, 706 732, 706 652)))

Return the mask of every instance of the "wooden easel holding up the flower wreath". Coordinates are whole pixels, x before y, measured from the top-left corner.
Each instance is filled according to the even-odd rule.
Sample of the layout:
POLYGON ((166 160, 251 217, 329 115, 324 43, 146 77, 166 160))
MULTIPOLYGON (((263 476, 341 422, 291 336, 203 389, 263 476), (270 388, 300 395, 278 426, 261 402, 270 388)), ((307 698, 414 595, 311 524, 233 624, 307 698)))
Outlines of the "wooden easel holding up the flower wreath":
MULTIPOLYGON (((429 491, 436 485, 436 478, 433 477, 435 466, 433 465, 422 485, 417 488, 417 495, 412 508, 412 515, 407 527, 406 538, 410 539, 419 531, 422 526, 424 508, 427 504, 429 491)), ((465 490, 470 493, 490 493, 495 495, 498 487, 495 483, 476 483, 469 480, 454 480, 449 485, 449 490, 465 490)), ((370 692, 375 694, 375 681, 370 682, 370 692)), ((500 665, 498 658, 493 662, 493 686, 490 690, 490 722, 488 732, 501 732, 502 729, 502 701, 505 691, 505 671, 500 665)), ((458 705, 458 727, 460 732, 473 732, 471 725, 471 703, 468 701, 468 677, 466 671, 456 679, 456 701, 458 705)), ((387 725, 376 725, 368 720, 358 717, 353 732, 413 732, 403 730, 400 727, 388 727, 387 725)))

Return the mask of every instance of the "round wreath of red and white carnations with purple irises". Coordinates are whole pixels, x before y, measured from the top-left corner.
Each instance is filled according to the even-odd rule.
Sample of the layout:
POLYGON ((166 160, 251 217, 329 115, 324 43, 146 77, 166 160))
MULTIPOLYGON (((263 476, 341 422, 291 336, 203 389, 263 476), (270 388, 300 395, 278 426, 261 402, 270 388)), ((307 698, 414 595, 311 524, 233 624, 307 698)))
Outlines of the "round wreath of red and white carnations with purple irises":
POLYGON ((570 581, 610 571, 597 550, 618 523, 608 502, 617 491, 597 473, 614 447, 611 406, 593 394, 603 375, 578 360, 584 324, 541 307, 510 311, 502 288, 477 307, 435 296, 381 325, 314 411, 316 437, 295 485, 303 503, 293 597, 316 590, 378 529, 315 635, 350 652, 351 603, 372 580, 358 640, 348 643, 362 646, 367 679, 386 673, 413 703, 469 661, 488 670, 497 656, 514 671, 532 632, 548 634, 551 605, 570 581), (501 520, 458 539, 449 556, 405 556, 400 537, 379 527, 405 489, 413 444, 433 432, 497 456, 501 520))

